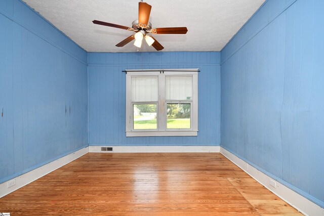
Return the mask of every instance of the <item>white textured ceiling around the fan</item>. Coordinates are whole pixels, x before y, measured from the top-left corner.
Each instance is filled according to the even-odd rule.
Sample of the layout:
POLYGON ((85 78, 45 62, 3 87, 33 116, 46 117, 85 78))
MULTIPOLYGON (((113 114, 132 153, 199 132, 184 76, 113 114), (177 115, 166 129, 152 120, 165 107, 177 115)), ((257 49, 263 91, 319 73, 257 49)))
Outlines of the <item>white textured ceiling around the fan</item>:
MULTIPOLYGON (((95 25, 100 20, 131 27, 138 0, 23 0, 88 52, 136 52, 118 42, 132 32, 95 25)), ((187 34, 158 34, 163 51, 220 51, 265 0, 146 0, 152 27, 188 28, 187 34)), ((143 42, 139 51, 155 51, 143 42)))

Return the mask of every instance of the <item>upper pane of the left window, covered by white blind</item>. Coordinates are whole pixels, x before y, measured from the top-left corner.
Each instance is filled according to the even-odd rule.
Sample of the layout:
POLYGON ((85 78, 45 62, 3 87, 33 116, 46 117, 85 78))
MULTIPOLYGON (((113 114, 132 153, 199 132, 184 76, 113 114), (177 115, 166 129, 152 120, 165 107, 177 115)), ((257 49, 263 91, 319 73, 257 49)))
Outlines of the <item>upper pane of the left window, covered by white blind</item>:
POLYGON ((157 76, 132 77, 132 101, 157 101, 157 76))

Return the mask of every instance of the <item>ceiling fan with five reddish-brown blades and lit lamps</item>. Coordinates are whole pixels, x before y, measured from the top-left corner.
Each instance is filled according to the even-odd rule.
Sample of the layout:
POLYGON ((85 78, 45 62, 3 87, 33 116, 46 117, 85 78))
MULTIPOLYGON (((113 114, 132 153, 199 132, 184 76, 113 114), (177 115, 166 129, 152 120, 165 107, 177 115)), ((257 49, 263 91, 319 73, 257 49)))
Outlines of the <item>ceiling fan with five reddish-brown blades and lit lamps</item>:
POLYGON ((186 34, 188 29, 187 27, 171 27, 171 28, 152 28, 152 24, 148 21, 151 13, 151 8, 147 3, 144 3, 143 0, 138 3, 138 20, 133 21, 132 27, 127 27, 123 25, 116 25, 113 23, 102 22, 98 20, 92 21, 97 25, 105 25, 114 28, 121 28, 129 31, 135 31, 137 33, 132 34, 123 41, 116 44, 116 47, 124 47, 129 42, 135 39, 134 45, 138 48, 142 46, 143 37, 145 38, 148 46, 153 46, 155 50, 163 50, 164 47, 152 36, 151 34, 186 34))

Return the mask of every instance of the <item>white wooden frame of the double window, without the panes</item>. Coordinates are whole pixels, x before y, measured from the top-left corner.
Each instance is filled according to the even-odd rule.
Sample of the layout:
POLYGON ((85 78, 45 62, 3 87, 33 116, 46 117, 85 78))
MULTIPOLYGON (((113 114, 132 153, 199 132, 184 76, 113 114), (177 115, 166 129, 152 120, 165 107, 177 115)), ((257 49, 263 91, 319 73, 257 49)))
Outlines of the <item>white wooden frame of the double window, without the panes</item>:
POLYGON ((198 133, 198 69, 126 70, 126 137, 197 136, 198 133), (157 129, 134 129, 133 104, 156 102, 132 101, 132 76, 158 76, 157 129), (191 100, 166 100, 166 76, 192 76, 191 100), (190 104, 190 128, 167 128, 167 103, 190 104))

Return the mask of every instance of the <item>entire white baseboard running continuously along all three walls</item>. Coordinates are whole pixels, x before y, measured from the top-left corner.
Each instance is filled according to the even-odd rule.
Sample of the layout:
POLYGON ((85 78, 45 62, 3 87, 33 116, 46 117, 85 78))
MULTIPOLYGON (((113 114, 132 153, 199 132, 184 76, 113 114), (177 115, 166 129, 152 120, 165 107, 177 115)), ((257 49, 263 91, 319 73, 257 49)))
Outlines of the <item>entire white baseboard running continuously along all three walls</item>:
POLYGON ((53 162, 50 162, 44 166, 33 169, 26 174, 16 177, 12 180, 0 184, 0 198, 6 196, 9 193, 49 174, 55 169, 77 159, 80 156, 87 154, 88 152, 105 152, 105 153, 140 153, 140 152, 220 152, 230 161, 239 166, 242 170, 247 172, 253 179, 258 181, 268 190, 276 194, 282 200, 295 207, 297 210, 305 215, 321 215, 324 216, 324 209, 319 205, 313 203, 302 195, 296 193, 290 188, 275 181, 271 177, 267 176, 263 172, 259 171, 255 167, 251 166, 244 160, 238 158, 234 154, 230 153, 226 149, 220 146, 110 146, 113 151, 101 151, 101 147, 107 146, 89 146, 64 157, 61 157, 53 162), (8 188, 10 182, 15 181, 15 185, 8 188), (275 188, 270 185, 270 181, 275 182, 275 188))

